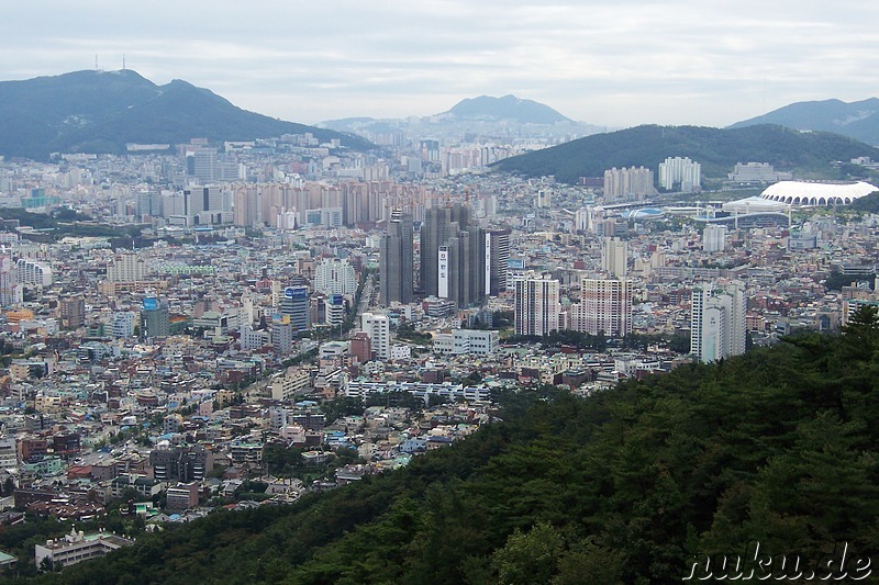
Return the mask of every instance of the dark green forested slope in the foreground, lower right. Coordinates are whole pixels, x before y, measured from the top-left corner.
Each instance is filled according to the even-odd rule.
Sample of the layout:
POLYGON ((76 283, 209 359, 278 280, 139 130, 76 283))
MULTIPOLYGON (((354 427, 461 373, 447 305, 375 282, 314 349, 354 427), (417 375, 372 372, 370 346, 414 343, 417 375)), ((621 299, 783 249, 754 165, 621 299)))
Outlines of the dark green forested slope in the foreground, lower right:
POLYGON ((847 543, 863 576, 855 561, 879 560, 878 320, 587 400, 512 396, 504 423, 403 471, 212 514, 42 582, 668 583, 757 542, 806 575, 847 543))

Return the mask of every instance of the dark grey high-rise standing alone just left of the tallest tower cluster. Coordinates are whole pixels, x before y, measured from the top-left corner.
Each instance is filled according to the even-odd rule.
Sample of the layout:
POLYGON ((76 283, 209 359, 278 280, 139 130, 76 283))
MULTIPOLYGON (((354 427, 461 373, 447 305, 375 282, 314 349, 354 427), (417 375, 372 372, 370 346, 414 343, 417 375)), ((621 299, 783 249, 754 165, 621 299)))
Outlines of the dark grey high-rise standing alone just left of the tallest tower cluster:
POLYGON ((388 232, 381 237, 381 305, 412 302, 414 257, 412 215, 394 210, 388 232))

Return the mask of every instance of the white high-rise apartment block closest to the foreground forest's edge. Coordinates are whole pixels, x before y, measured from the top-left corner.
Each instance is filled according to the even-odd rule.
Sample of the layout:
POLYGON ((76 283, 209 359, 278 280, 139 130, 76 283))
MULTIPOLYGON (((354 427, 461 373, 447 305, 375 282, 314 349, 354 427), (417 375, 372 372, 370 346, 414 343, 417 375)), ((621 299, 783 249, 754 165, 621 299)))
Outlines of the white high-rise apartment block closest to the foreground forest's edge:
POLYGON ((690 352, 710 362, 745 352, 747 299, 741 282, 693 289, 690 352))

